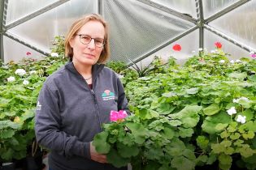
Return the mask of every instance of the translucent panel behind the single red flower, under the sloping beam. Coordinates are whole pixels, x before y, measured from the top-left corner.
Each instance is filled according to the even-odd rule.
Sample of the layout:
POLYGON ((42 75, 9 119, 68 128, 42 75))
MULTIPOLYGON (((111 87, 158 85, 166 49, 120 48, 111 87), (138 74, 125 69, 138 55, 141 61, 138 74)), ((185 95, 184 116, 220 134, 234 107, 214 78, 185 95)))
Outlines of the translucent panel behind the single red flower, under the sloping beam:
POLYGON ((180 40, 176 40, 175 42, 167 45, 165 48, 158 50, 158 52, 146 57, 143 61, 141 61, 144 65, 150 63, 154 56, 161 57, 163 61, 167 62, 169 57, 175 57, 176 62, 179 65, 184 64, 184 62, 192 57, 197 51, 199 47, 199 31, 198 29, 194 32, 189 33, 189 35, 180 38, 180 40), (180 45, 181 50, 175 51, 172 49, 173 45, 180 45))

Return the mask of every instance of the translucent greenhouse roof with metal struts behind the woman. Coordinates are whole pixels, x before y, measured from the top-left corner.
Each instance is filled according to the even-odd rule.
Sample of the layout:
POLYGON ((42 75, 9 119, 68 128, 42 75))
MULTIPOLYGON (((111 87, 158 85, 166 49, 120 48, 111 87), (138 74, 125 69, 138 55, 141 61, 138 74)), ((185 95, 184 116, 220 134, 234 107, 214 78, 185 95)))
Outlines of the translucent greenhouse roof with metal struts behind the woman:
POLYGON ((111 27, 111 59, 128 62, 154 55, 184 59, 215 49, 233 58, 256 52, 256 0, 2 0, 0 54, 4 62, 50 53, 82 15, 103 15, 111 27), (180 44, 180 53, 172 45, 180 44))

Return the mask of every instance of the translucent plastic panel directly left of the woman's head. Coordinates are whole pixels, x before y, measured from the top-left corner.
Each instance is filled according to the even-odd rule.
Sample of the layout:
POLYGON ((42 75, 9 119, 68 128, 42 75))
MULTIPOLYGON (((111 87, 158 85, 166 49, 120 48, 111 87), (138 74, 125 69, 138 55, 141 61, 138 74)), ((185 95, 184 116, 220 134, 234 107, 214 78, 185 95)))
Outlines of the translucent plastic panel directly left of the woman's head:
POLYGON ((9 30, 30 45, 50 52, 54 36, 66 35, 74 20, 97 12, 97 1, 72 0, 9 30), (76 9, 76 10, 74 10, 76 9))

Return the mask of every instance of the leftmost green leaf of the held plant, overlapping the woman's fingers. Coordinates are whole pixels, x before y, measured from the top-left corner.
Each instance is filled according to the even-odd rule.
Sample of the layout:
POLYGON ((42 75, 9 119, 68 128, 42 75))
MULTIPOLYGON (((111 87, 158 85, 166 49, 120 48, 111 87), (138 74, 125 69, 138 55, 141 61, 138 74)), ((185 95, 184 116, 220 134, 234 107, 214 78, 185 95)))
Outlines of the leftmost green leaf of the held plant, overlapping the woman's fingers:
POLYGON ((111 149, 111 145, 106 142, 107 136, 108 133, 103 131, 93 138, 93 146, 100 154, 107 154, 111 149))

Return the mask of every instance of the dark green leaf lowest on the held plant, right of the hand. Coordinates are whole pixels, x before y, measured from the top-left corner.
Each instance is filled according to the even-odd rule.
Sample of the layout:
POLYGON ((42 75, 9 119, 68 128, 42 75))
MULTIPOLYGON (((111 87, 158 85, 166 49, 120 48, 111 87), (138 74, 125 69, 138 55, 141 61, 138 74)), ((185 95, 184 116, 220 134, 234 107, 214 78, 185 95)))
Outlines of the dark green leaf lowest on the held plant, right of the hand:
POLYGON ((111 148, 111 151, 106 155, 106 160, 109 164, 113 164, 116 168, 124 167, 130 162, 130 159, 123 158, 113 148, 111 148))

